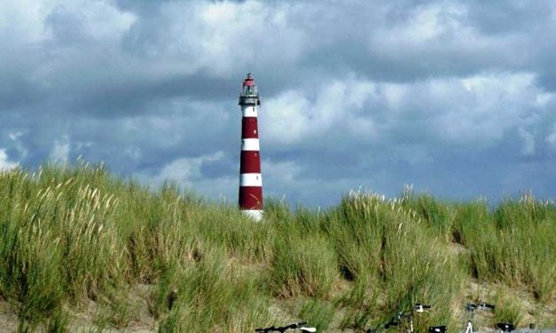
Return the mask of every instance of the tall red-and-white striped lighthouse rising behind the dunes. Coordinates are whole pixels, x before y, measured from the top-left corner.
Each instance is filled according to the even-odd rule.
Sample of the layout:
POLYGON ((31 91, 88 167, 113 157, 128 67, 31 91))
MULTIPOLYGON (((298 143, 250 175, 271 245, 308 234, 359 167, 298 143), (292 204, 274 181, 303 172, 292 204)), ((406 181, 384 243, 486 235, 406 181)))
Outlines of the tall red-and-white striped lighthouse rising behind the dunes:
POLYGON ((251 74, 243 81, 241 107, 241 156, 239 159, 239 209, 255 221, 262 220, 262 175, 259 151, 259 92, 251 74))

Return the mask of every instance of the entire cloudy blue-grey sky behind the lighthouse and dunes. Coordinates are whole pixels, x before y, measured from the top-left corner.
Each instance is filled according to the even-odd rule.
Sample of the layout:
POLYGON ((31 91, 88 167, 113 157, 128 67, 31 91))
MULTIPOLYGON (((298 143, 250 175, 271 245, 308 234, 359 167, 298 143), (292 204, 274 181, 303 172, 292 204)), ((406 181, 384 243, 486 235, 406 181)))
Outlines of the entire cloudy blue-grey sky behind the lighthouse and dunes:
POLYGON ((247 72, 265 197, 556 197, 553 1, 2 0, 0 167, 235 202, 247 72))

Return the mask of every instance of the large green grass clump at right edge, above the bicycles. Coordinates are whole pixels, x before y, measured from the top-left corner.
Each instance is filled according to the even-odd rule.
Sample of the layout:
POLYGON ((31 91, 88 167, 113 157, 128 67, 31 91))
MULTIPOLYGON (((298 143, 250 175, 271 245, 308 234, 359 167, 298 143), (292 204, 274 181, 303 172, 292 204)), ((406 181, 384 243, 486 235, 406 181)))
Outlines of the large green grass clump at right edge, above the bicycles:
POLYGON ((526 196, 506 201, 489 214, 486 203, 467 205, 460 212, 458 233, 469 249, 474 277, 513 287, 528 285, 542 302, 556 295, 556 208, 552 204, 526 196))

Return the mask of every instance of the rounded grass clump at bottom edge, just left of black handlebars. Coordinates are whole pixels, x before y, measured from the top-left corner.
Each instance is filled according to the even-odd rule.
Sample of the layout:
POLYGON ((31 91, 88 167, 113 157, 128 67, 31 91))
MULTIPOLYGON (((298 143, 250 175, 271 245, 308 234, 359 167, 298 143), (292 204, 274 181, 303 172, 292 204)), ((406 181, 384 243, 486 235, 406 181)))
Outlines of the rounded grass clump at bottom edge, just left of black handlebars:
POLYGON ((228 266, 225 252, 218 249, 188 267, 168 270, 156 307, 166 306, 170 288, 176 288, 177 299, 171 310, 161 311, 160 331, 245 332, 268 323, 268 298, 251 273, 228 266))

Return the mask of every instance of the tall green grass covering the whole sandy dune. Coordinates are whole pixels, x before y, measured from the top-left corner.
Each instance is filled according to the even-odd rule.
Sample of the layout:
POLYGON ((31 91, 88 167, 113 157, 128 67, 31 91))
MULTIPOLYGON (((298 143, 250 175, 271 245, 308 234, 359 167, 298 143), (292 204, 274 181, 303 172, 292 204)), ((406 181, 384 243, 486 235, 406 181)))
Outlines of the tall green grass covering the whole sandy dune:
POLYGON ((524 324, 514 290, 532 299, 537 325, 556 325, 554 239, 556 206, 529 195, 490 207, 354 192, 325 211, 267 200, 255 223, 234 205, 171 183, 149 190, 100 166, 0 173, 0 300, 20 331, 71 330, 70 309, 91 301, 96 331, 125 329, 137 285, 149 287, 161 332, 296 319, 358 330, 416 302, 434 306, 418 329, 460 327, 462 306, 478 300, 497 303, 493 320, 524 324))

